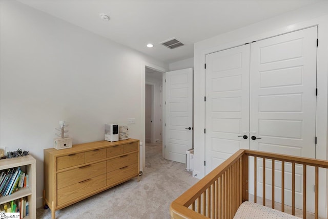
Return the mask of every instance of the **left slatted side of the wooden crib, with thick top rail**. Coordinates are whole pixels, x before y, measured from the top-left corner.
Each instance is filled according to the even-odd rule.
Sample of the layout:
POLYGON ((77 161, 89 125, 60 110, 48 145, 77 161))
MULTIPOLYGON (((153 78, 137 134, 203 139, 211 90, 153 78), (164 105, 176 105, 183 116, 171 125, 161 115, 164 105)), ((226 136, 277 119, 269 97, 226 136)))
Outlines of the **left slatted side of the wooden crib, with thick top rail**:
POLYGON ((241 160, 244 153, 244 150, 238 150, 179 196, 170 206, 171 217, 232 218, 241 200, 244 199, 242 197, 244 164, 241 160))

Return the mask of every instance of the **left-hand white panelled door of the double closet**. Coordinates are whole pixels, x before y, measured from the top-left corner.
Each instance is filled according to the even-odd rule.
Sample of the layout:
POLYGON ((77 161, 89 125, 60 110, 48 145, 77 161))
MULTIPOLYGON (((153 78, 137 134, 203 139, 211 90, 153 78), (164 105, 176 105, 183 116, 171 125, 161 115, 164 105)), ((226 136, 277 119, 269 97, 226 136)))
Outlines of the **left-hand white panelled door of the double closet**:
POLYGON ((206 56, 206 173, 249 148, 249 71, 250 45, 206 56))

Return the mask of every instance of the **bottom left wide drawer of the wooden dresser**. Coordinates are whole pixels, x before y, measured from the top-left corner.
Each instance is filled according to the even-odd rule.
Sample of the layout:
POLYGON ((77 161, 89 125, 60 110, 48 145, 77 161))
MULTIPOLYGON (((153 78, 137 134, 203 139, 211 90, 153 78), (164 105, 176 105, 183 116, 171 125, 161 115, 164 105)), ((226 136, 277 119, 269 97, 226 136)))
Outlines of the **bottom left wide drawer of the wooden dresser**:
POLYGON ((106 173, 85 181, 66 186, 57 191, 57 206, 78 199, 106 186, 106 173))

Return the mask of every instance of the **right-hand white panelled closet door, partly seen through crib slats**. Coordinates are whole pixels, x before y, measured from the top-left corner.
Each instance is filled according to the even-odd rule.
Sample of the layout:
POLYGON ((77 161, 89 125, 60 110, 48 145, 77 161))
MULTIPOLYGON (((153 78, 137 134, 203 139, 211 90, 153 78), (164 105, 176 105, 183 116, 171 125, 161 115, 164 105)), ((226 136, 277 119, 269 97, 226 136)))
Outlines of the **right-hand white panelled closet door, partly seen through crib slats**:
MULTIPOLYGON (((315 158, 316 40, 317 27, 312 27, 251 43, 250 149, 315 158)), ((271 162, 266 167, 271 176, 271 162)), ((291 165, 286 164, 286 169, 291 165)), ((280 201, 281 173, 275 174, 276 201, 280 201)), ((291 179, 291 172, 285 178, 291 179)), ((266 182, 270 199, 271 179, 266 182)), ((302 166, 296 166, 296 182, 296 207, 301 208, 302 166)), ((261 180, 258 184, 262 188, 261 180)), ((286 183, 286 204, 291 203, 290 187, 286 183)), ((257 192, 261 196, 262 190, 257 192)), ((307 200, 312 192, 307 193, 307 200)), ((314 201, 308 204, 310 210, 314 201)))

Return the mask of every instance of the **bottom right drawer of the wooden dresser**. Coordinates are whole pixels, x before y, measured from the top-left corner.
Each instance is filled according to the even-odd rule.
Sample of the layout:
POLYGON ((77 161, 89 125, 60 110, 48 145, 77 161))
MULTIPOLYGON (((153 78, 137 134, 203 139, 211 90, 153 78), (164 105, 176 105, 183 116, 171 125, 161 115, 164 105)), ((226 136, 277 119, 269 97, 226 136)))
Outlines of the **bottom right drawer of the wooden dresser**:
POLYGON ((107 173, 106 184, 107 186, 115 184, 131 176, 137 176, 138 173, 139 170, 137 163, 121 167, 120 169, 107 173))

